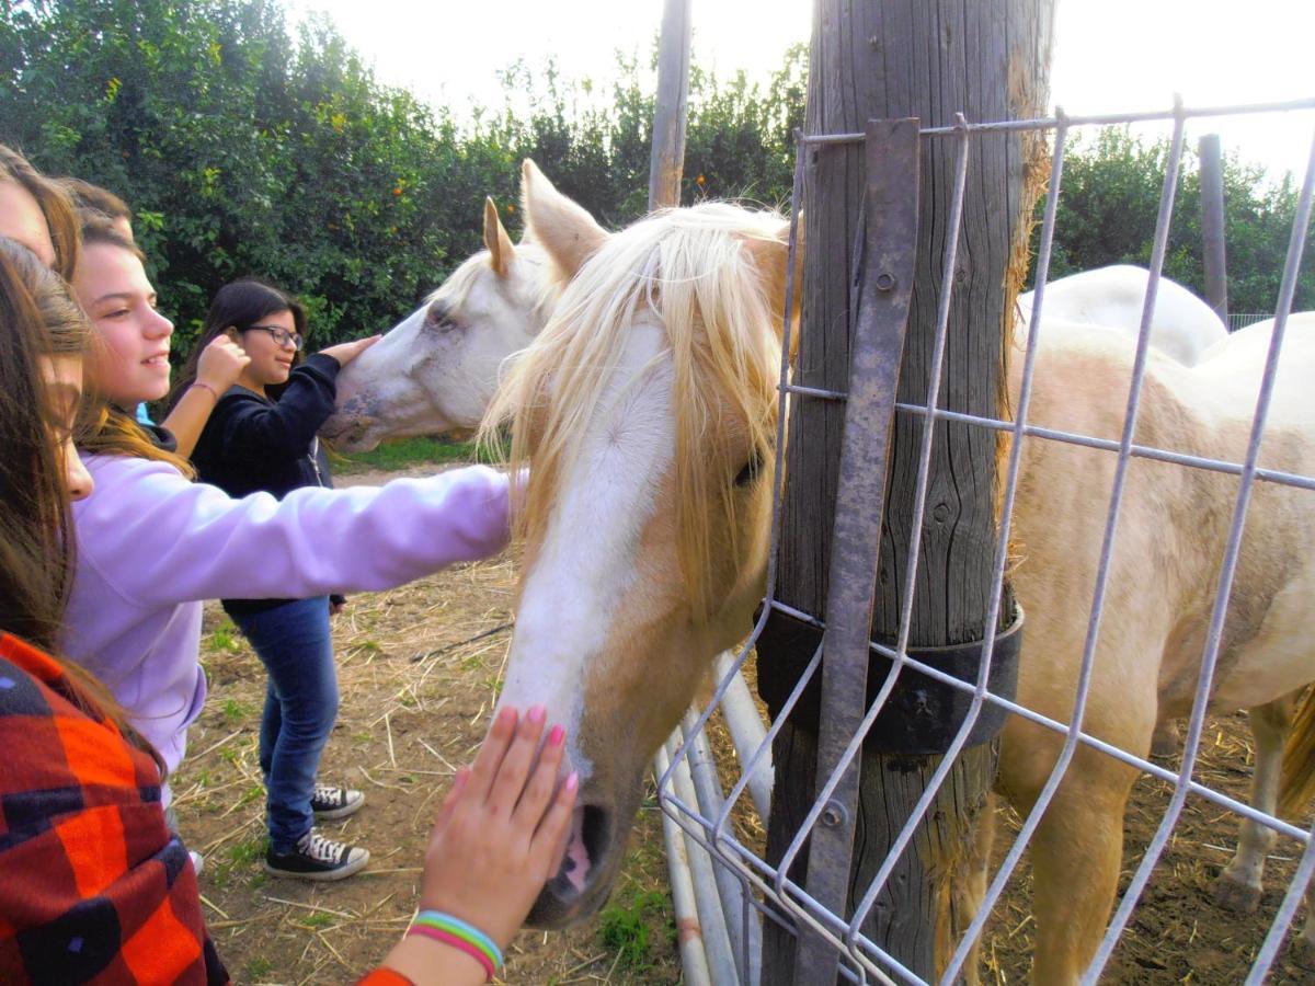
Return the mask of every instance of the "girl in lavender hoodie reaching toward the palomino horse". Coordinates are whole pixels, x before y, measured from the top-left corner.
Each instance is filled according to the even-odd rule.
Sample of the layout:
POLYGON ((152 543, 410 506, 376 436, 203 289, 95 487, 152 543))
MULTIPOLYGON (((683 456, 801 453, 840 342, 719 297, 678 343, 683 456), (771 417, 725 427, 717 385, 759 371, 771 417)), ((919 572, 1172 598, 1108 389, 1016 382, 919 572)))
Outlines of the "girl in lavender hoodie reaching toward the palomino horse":
MULTIPOLYGON (((87 242, 74 287, 99 337, 85 372, 101 404, 80 442, 96 485, 74 506, 63 644, 112 689, 167 769, 183 760, 205 701, 203 599, 385 589, 505 546, 508 481, 483 467, 377 489, 308 486, 283 500, 193 484, 191 467, 121 410, 168 390, 174 326, 155 310, 141 255, 103 233, 87 242)), ((341 365, 364 344, 333 347, 323 362, 341 365)), ((297 844, 327 878, 368 860, 310 830, 297 844)))

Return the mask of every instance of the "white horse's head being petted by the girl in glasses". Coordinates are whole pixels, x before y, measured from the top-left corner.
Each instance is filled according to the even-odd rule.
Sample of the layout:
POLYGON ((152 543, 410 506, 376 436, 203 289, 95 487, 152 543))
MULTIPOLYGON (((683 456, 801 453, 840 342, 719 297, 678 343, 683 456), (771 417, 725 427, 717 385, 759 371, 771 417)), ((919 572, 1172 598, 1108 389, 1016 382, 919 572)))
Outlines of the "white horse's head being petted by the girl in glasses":
MULTIPOLYGON (((552 188, 533 162, 522 174, 522 196, 534 184, 552 188)), ((560 284, 538 245, 512 243, 492 199, 484 202, 484 246, 338 376, 338 406, 321 434, 339 450, 364 452, 388 438, 480 423, 498 367, 538 335, 560 284)))

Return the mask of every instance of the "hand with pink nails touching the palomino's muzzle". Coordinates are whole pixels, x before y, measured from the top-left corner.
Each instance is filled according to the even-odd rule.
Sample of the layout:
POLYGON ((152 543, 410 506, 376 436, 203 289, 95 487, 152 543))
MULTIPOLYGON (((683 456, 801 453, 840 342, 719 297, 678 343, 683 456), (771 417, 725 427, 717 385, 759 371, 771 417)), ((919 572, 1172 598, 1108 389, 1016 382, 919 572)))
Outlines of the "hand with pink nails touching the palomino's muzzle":
POLYGON ((421 907, 469 922, 505 945, 556 874, 579 793, 558 784, 565 732, 554 726, 535 763, 546 714, 502 709, 473 766, 456 772, 425 853, 421 907))

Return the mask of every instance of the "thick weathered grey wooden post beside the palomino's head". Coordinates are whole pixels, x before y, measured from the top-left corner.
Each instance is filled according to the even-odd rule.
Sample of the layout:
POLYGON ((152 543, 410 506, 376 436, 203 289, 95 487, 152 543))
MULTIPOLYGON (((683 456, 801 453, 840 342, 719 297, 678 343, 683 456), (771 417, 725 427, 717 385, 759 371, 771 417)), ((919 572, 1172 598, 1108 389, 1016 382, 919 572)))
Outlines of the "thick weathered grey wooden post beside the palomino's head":
MULTIPOLYGON (((923 126, 1040 116, 1048 96, 1055 0, 817 0, 806 128, 810 134, 861 133, 868 120, 918 117, 923 126)), ((942 406, 1001 417, 1006 316, 1026 273, 1027 226, 1044 177, 1041 138, 1027 133, 972 139, 968 196, 953 272, 942 406)), ((955 141, 924 138, 920 155, 915 283, 897 400, 927 393, 942 263, 947 238, 955 141)), ((797 384, 823 390, 848 385, 856 223, 863 216, 861 145, 810 146, 803 208, 807 247, 797 384)), ((796 397, 788 450, 777 598, 822 615, 827 598, 836 467, 844 404, 796 397)), ((997 439, 985 429, 936 425, 927 511, 910 531, 922 418, 896 414, 892 426, 886 518, 872 618, 873 639, 896 639, 910 539, 922 538, 910 647, 982 640, 997 532, 997 439)), ((1013 617, 1001 613, 1001 626, 1013 617)), ((785 640, 789 618, 768 624, 759 643, 759 676, 785 640), (775 636, 775 639, 773 639, 775 636)), ((764 692, 765 695, 765 692, 764 692)), ((826 714, 826 710, 822 711, 826 714)), ((781 858, 814 799, 817 735, 786 724, 773 745, 776 782, 768 858, 781 858)), ((865 751, 859 833, 849 872, 848 912, 939 764, 936 756, 865 751)), ((964 751, 910 851, 892 874, 864 933, 906 968, 934 979, 968 923, 964 868, 974 826, 995 770, 995 747, 964 751)), ((822 778, 818 778, 819 781, 822 778)), ((803 883, 806 860, 792 878, 803 883)), ((831 982, 796 966, 796 940, 764 927, 764 983, 831 982)))

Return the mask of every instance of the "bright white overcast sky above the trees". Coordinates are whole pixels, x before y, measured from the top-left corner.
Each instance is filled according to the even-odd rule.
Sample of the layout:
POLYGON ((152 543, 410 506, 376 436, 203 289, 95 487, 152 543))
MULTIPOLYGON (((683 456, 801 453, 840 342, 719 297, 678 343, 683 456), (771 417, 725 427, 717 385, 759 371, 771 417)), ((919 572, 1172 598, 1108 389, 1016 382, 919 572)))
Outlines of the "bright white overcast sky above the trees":
MULTIPOLYGON (((501 105, 496 72, 517 58, 539 67, 555 55, 563 75, 605 83, 614 51, 647 64, 663 0, 289 0, 295 17, 323 11, 372 62, 381 82, 404 85, 458 116, 501 105)), ((700 64, 753 78, 811 30, 810 0, 693 0, 700 64)), ((1069 113, 1315 97, 1315 0, 1057 0, 1053 101, 1069 113)), ((1218 130, 1226 149, 1299 180, 1315 113, 1194 124, 1189 139, 1218 130)))

